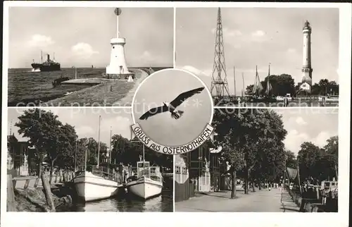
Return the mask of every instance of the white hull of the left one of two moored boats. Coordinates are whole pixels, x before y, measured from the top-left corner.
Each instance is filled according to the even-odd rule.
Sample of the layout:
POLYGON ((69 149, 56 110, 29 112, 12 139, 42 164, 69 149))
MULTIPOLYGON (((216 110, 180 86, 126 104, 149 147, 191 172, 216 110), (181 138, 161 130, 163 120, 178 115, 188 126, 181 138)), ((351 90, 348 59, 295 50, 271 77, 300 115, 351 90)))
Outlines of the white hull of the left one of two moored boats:
POLYGON ((85 202, 103 200, 118 194, 118 183, 93 175, 88 171, 73 179, 78 197, 85 202))

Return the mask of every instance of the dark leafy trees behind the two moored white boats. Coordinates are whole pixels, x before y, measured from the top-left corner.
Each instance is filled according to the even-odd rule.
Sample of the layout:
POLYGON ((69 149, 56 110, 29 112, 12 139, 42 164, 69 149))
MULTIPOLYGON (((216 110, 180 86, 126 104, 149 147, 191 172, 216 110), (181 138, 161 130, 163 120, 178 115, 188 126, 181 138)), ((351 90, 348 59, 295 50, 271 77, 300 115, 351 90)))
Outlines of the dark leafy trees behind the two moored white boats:
MULTIPOLYGON (((40 176, 42 164, 50 166, 50 177, 54 167, 73 171, 75 167, 96 165, 98 161, 99 142, 94 138, 78 138, 75 127, 63 124, 58 116, 43 109, 29 109, 18 117, 18 133, 28 138, 28 145, 40 176)), ((142 155, 142 144, 132 142, 121 135, 111 137, 111 157, 108 145, 100 142, 99 164, 103 161, 111 164, 135 164, 142 155)), ((17 151, 20 152, 20 151, 17 151)), ((146 160, 151 164, 172 169, 172 157, 145 150, 146 160)))

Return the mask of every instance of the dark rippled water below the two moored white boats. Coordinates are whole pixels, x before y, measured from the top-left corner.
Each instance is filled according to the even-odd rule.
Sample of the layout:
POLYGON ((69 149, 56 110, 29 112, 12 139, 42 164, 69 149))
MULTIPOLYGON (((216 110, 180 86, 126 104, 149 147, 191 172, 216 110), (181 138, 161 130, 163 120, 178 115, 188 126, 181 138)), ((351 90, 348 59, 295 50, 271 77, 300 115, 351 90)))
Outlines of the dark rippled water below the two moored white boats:
POLYGON ((172 212, 172 190, 150 200, 132 200, 127 198, 112 198, 86 204, 75 204, 69 211, 76 212, 172 212))

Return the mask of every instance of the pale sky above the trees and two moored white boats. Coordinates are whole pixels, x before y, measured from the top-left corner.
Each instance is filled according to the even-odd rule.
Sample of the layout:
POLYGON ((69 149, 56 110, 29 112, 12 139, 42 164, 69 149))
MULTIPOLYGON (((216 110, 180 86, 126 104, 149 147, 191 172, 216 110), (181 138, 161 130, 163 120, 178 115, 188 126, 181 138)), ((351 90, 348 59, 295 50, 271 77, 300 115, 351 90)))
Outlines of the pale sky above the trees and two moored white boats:
MULTIPOLYGON (((18 128, 14 125, 18 122, 18 116, 23 114, 25 109, 8 109, 8 130, 11 128, 12 133, 20 141, 27 141, 22 135, 18 134, 18 128), (12 125, 11 125, 12 120, 12 125)), ((101 116, 101 142, 109 144, 110 130, 113 135, 122 135, 127 139, 131 139, 132 130, 132 114, 130 109, 97 109, 97 108, 45 108, 58 115, 58 120, 62 123, 68 123, 75 126, 78 137, 93 137, 98 141, 99 131, 99 115, 101 116)), ((9 133, 8 133, 9 134, 9 133)))

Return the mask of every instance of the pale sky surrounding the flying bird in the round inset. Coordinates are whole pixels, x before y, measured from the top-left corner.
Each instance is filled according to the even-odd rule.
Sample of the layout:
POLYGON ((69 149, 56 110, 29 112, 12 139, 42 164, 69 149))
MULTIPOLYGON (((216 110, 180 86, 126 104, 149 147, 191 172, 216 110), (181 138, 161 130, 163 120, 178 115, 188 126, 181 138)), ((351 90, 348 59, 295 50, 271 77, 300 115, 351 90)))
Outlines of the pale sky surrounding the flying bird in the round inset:
POLYGON ((151 140, 165 146, 185 145, 201 135, 212 118, 213 102, 207 90, 189 97, 177 110, 184 111, 181 118, 171 118, 169 112, 139 120, 149 109, 172 102, 182 92, 187 92, 203 84, 189 73, 180 70, 161 70, 146 78, 136 92, 133 113, 137 123, 151 140))

